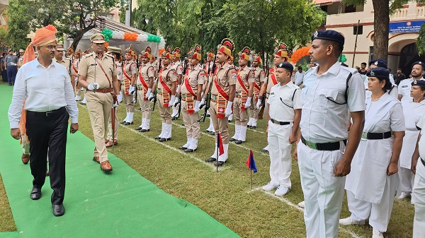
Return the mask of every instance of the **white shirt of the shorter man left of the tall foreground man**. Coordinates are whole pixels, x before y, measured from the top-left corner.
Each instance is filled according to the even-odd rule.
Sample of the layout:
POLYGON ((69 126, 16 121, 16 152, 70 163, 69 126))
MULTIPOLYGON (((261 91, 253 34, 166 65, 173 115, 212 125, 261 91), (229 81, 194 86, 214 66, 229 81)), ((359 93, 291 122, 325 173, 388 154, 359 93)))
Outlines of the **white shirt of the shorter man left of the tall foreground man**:
POLYGON ((280 83, 274 85, 267 101, 270 105, 268 109, 270 118, 276 121, 293 122, 294 109, 302 109, 300 95, 300 88, 292 82, 283 86, 280 83))

